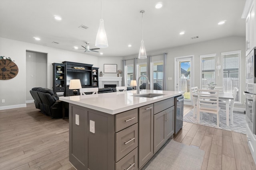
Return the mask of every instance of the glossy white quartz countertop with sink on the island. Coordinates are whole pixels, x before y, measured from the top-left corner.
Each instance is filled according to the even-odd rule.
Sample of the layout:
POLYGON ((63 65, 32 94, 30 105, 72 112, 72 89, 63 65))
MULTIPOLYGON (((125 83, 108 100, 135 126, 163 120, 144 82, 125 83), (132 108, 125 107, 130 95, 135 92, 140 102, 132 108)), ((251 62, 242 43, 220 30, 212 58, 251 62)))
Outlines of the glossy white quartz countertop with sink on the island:
POLYGON ((78 106, 88 107, 90 109, 102 111, 109 114, 121 113, 130 109, 145 106, 161 100, 172 98, 183 94, 178 91, 163 91, 163 90, 142 90, 140 94, 164 94, 154 98, 145 98, 133 96, 137 95, 137 90, 130 90, 125 92, 110 92, 101 94, 90 94, 82 96, 67 96, 59 97, 59 100, 76 104, 78 106))

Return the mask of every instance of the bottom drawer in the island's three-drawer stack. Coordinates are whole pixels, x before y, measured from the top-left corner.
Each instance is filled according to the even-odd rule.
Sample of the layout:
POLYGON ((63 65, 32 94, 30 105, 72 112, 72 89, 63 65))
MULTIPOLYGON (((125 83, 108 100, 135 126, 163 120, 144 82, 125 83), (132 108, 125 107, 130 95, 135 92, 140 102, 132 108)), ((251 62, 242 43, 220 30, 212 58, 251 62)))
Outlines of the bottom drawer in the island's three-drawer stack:
POLYGON ((138 148, 117 162, 116 170, 138 170, 138 148))

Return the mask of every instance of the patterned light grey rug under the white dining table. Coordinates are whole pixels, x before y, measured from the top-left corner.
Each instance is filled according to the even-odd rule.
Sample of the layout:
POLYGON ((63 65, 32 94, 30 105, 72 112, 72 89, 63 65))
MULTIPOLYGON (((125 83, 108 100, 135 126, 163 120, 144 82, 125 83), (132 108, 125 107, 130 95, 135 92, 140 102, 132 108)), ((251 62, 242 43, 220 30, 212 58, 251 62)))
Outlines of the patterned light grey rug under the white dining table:
POLYGON ((226 126, 226 113, 221 113, 219 127, 217 127, 216 116, 214 116, 213 121, 211 121, 209 119, 208 113, 203 113, 202 115, 203 115, 202 119, 200 119, 200 123, 198 123, 197 119, 195 117, 193 117, 193 110, 192 110, 183 117, 183 121, 190 122, 190 123, 196 123, 199 125, 204 125, 204 126, 209 126, 209 127, 216 127, 216 128, 224 129, 227 131, 234 131, 234 132, 246 134, 246 119, 245 119, 245 114, 242 112, 234 112, 233 113, 234 124, 231 125, 230 121, 229 121, 229 124, 230 124, 229 126, 226 126))

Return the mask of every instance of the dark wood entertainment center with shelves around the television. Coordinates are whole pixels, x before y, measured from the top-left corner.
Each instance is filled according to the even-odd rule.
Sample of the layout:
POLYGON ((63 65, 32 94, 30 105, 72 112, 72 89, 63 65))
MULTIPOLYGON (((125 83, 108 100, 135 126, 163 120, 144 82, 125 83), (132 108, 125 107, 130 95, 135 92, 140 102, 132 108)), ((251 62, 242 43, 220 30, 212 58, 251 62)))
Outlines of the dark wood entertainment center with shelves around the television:
POLYGON ((73 96, 68 89, 70 79, 80 79, 82 88, 98 87, 99 68, 92 64, 63 61, 52 63, 52 66, 52 90, 58 96, 73 96))

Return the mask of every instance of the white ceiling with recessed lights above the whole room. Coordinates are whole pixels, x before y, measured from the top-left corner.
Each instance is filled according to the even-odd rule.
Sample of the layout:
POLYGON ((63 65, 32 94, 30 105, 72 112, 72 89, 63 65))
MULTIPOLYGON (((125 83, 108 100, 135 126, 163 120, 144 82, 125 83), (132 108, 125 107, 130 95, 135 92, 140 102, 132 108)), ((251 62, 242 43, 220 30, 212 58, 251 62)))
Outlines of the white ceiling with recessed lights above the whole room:
MULTIPOLYGON (((88 55, 122 57, 228 36, 245 36, 241 19, 246 0, 102 0, 108 48, 88 55), (224 25, 217 25, 226 20, 224 25), (179 35, 185 31, 184 35, 179 35), (199 36, 198 39, 191 37, 199 36), (128 47, 131 44, 132 47, 128 47)), ((0 37, 84 53, 74 46, 95 47, 101 18, 100 0, 0 0, 0 37), (62 17, 56 21, 54 15, 62 17), (78 28, 86 25, 88 29, 78 28), (40 37, 40 41, 33 37, 40 37), (53 44, 56 41, 59 44, 53 44)), ((15 49, 14 49, 15 50, 15 49)), ((164 52, 164 51, 163 51, 164 52)))

